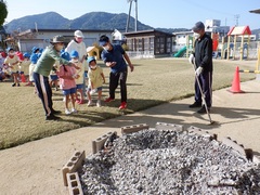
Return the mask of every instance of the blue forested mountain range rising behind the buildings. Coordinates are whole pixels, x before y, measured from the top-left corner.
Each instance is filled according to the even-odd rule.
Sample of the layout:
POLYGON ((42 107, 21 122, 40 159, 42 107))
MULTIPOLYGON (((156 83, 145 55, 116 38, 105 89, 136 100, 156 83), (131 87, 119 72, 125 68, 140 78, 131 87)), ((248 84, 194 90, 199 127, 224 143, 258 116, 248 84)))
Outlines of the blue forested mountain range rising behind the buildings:
MULTIPOLYGON (((106 12, 91 12, 75 20, 67 20, 55 12, 28 15, 13 20, 4 28, 8 32, 24 31, 30 28, 38 29, 126 29, 128 14, 112 14, 106 12)), ((138 22, 139 30, 153 29, 153 27, 138 22)), ((129 29, 134 29, 134 18, 130 17, 129 29)))

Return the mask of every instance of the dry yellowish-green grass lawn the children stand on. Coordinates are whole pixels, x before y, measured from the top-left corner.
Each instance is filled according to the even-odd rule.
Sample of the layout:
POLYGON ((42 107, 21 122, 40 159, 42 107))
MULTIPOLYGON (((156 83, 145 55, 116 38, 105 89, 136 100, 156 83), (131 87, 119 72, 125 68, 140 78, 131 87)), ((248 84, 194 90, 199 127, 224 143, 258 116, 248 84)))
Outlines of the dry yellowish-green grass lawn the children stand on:
MULTIPOLYGON (((213 61, 213 90, 231 86, 236 66, 255 69, 255 62, 213 61)), ((106 76, 103 90, 105 98, 108 95, 109 69, 104 67, 103 62, 98 63, 106 76)), ((0 82, 0 150, 194 95, 194 70, 187 58, 132 60, 132 63, 135 67, 128 75, 128 109, 125 113, 118 110, 119 89, 116 91, 116 101, 109 104, 102 102, 102 107, 77 105, 79 113, 68 116, 64 114, 62 92, 53 90, 53 107, 63 112, 63 120, 46 121, 40 99, 34 93, 32 87, 22 83, 18 88, 11 87, 12 82, 9 81, 0 82)), ((240 81, 253 78, 255 74, 240 75, 240 81)))

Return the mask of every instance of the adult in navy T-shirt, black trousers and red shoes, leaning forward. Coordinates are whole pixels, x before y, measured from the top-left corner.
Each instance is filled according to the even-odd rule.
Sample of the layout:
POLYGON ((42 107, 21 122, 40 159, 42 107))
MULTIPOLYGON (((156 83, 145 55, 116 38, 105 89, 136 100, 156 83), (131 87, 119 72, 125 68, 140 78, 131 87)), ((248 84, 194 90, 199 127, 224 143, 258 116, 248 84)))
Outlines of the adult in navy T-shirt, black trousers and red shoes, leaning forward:
POLYGON ((128 56, 128 54, 122 49, 121 44, 112 44, 107 36, 103 35, 100 37, 100 44, 103 47, 101 53, 102 60, 107 67, 110 67, 109 74, 109 98, 105 102, 110 102, 115 100, 115 91, 120 82, 120 94, 121 104, 119 109, 127 108, 127 75, 128 65, 130 70, 133 72, 133 65, 128 56), (128 63, 126 63, 126 61, 128 63))

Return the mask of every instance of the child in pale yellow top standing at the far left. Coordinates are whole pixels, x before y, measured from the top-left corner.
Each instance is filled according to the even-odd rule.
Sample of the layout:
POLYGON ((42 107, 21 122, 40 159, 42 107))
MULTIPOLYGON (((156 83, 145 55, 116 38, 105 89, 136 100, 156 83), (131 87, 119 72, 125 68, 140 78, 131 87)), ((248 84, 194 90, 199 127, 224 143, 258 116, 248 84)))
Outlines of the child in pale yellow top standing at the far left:
POLYGON ((4 64, 9 66, 11 75, 13 76, 14 83, 12 87, 20 87, 20 81, 18 81, 18 56, 15 55, 14 50, 12 48, 8 49, 8 56, 4 60, 4 64))

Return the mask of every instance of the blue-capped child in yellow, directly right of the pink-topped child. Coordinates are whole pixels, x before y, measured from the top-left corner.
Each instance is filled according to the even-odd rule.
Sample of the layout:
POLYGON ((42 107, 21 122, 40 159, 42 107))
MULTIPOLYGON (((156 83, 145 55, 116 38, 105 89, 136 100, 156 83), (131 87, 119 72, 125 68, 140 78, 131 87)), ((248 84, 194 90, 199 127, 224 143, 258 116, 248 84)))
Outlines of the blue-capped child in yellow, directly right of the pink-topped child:
POLYGON ((76 50, 70 52, 72 62, 76 64, 80 69, 78 70, 79 78, 76 79, 77 92, 79 93, 79 99, 76 92, 76 102, 78 104, 83 104, 83 79, 84 79, 84 67, 81 62, 79 62, 79 54, 76 50))

